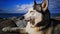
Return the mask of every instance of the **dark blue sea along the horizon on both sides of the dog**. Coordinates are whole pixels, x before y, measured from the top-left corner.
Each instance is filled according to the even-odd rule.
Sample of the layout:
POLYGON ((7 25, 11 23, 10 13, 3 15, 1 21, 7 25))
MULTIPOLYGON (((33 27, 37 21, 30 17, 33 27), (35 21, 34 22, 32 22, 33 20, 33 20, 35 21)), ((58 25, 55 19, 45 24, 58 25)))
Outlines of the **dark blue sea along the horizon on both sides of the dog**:
MULTIPOLYGON (((0 13, 0 18, 9 18, 9 17, 21 17, 25 13, 0 13)), ((51 13, 50 16, 52 18, 54 17, 60 17, 60 13, 51 13)))

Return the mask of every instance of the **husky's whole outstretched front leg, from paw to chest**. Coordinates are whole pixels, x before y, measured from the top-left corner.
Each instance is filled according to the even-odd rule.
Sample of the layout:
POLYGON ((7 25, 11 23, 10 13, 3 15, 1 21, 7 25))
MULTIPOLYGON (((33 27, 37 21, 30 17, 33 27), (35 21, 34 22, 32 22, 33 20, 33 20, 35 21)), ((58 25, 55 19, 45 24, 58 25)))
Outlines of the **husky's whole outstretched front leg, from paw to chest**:
POLYGON ((4 31, 4 32, 20 32, 21 34, 28 34, 27 32, 26 32, 26 30, 25 30, 25 28, 19 28, 19 27, 13 27, 13 28, 11 28, 11 27, 5 27, 5 28, 3 28, 2 29, 2 31, 4 31))

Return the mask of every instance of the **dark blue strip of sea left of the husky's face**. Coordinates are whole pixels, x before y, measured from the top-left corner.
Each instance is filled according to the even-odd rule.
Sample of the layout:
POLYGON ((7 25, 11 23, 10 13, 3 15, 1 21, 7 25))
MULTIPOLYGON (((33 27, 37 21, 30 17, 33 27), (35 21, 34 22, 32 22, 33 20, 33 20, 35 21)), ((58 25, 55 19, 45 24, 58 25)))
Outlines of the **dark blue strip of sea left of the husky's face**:
POLYGON ((0 18, 21 17, 25 13, 0 13, 0 18))

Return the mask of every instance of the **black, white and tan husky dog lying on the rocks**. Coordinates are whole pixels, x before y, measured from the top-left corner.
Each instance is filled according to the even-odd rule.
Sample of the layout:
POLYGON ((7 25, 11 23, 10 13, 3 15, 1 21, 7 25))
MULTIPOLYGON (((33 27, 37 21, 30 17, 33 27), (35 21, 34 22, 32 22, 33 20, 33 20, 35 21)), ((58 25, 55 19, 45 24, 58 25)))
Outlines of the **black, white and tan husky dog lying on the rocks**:
MULTIPOLYGON (((60 32, 60 21, 50 18, 48 0, 44 0, 41 4, 34 1, 33 7, 23 17, 27 21, 27 25, 25 28, 17 29, 26 32, 25 34, 59 34, 60 32)), ((5 29, 3 28, 3 31, 5 29)), ((11 30, 14 29, 11 28, 11 30)))

